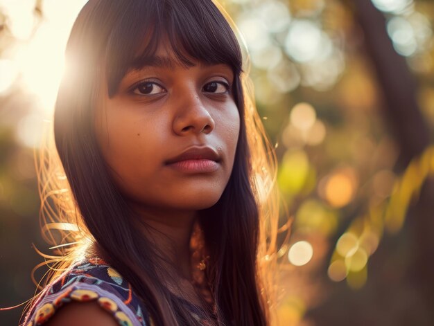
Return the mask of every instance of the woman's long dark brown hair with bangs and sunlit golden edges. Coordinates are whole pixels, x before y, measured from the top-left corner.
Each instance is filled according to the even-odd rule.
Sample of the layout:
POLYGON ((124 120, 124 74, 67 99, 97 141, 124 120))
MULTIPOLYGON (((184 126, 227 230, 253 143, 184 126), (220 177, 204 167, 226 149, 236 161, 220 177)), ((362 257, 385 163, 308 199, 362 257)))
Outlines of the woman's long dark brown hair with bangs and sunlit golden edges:
POLYGON ((55 105, 58 156, 53 143, 47 143, 37 165, 43 234, 60 253, 51 256, 56 269, 47 282, 97 244, 103 259, 132 284, 155 325, 198 323, 182 299, 159 282, 157 248, 134 228, 134 212, 110 177, 94 131, 101 80, 113 96, 128 69, 152 55, 166 37, 181 64, 191 65, 192 57, 234 71, 232 93, 241 118, 234 167, 219 201, 201 210, 198 222, 209 253, 207 278, 219 323, 270 324, 276 160, 249 96, 248 64, 243 66, 228 20, 211 0, 91 0, 81 10, 67 44, 69 69, 55 105))

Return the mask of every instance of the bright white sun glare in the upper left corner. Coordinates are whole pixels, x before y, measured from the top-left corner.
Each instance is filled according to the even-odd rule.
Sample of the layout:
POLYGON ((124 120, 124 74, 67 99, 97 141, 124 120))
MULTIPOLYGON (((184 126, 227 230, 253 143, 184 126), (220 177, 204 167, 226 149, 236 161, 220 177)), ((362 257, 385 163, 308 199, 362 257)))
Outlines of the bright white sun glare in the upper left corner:
POLYGON ((73 21, 87 1, 35 2, 1 3, 15 42, 2 53, 0 94, 7 95, 19 87, 27 98, 32 99, 17 125, 17 140, 27 147, 40 146, 42 121, 52 119, 64 72, 64 48, 73 21))

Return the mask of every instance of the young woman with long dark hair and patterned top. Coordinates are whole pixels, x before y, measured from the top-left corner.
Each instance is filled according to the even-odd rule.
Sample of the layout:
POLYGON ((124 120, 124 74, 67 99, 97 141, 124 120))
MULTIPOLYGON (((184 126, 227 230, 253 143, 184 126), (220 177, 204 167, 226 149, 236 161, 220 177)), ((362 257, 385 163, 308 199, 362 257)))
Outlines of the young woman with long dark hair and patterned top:
POLYGON ((270 325, 275 158, 225 17, 211 0, 81 10, 61 163, 38 167, 61 255, 23 325, 270 325))

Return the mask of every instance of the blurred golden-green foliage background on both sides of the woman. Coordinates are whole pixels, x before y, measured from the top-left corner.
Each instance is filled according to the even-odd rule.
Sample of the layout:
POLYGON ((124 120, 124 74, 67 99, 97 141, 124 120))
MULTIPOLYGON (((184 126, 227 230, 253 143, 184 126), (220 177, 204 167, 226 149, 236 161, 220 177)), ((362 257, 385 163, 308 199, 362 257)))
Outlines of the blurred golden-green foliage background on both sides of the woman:
MULTIPOLYGON (((417 84, 406 89, 417 98, 417 107, 408 110, 422 114, 432 143, 434 3, 366 3, 384 17, 376 28, 388 34, 395 51, 390 60, 405 58, 401 69, 417 84)), ((64 44, 71 12, 81 5, 0 1, 1 307, 35 291, 30 274, 41 257, 31 244, 46 245, 38 231, 33 147, 42 119, 51 118, 58 71, 49 69, 62 53, 61 46, 47 48, 56 42, 44 40, 63 37, 57 43, 64 44), (35 51, 30 58, 23 55, 29 48, 35 51)), ((428 192, 424 183, 433 176, 434 150, 424 145, 410 163, 400 163, 405 144, 385 114, 387 90, 357 15, 361 1, 223 5, 249 49, 259 113, 277 144, 278 185, 294 221, 290 243, 279 251, 281 325, 432 325, 431 297, 414 280, 424 265, 413 258, 426 255, 430 244, 418 242, 423 234, 415 221, 424 223, 426 233, 434 231, 422 219, 434 219, 433 211, 418 201, 428 192)), ((15 325, 20 313, 1 311, 1 325, 15 325)))

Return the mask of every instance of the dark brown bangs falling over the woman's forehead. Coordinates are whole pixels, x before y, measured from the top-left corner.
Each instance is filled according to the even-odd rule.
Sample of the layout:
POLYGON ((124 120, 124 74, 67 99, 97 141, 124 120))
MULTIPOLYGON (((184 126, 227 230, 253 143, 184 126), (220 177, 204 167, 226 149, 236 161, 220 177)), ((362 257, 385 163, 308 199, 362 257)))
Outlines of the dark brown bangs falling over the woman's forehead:
POLYGON ((173 59, 181 66, 227 64, 234 74, 242 71, 238 41, 212 1, 197 6, 191 0, 131 1, 115 21, 105 51, 109 96, 131 69, 140 69, 155 55, 162 39, 168 41, 173 59), (151 15, 150 13, 153 13, 151 15), (128 36, 125 36, 128 35, 128 36))

